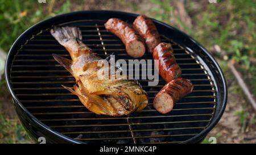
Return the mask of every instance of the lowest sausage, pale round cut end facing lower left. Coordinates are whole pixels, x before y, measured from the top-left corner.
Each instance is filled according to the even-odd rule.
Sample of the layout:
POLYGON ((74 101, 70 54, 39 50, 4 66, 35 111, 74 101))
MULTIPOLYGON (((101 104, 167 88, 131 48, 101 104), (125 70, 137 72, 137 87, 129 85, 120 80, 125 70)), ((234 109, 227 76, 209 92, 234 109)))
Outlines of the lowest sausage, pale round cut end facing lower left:
POLYGON ((188 79, 173 79, 156 94, 153 106, 158 112, 166 114, 172 110, 177 100, 187 96, 192 90, 193 84, 188 79))

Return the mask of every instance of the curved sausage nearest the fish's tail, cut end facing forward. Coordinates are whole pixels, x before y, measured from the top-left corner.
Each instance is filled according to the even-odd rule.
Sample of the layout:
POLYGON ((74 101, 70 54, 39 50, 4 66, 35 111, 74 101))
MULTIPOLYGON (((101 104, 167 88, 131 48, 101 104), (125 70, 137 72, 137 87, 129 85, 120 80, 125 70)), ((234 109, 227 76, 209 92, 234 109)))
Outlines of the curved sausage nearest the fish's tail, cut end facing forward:
POLYGON ((133 27, 129 26, 129 24, 123 22, 121 19, 110 18, 105 23, 105 28, 122 40, 129 56, 138 58, 144 55, 146 49, 143 37, 133 27))

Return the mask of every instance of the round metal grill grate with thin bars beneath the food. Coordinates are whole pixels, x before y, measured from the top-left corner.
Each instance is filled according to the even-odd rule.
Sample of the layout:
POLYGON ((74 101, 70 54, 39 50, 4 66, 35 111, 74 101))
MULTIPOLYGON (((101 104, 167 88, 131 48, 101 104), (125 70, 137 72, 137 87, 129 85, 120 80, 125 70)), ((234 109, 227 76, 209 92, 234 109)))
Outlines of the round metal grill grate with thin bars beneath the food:
MULTIPOLYGON (((61 26, 77 26, 83 42, 102 58, 114 52, 116 59, 132 59, 118 37, 106 32, 105 20, 76 20, 61 26)), ((150 104, 129 116, 111 117, 93 114, 80 100, 60 85, 72 86, 75 79, 53 60, 52 53, 69 57, 68 52, 49 33, 42 30, 18 50, 11 64, 11 85, 19 101, 37 119, 72 139, 84 143, 181 143, 202 132, 212 121, 216 110, 216 90, 207 70, 191 52, 168 37, 183 78, 190 79, 193 92, 181 99, 166 115, 152 107, 152 100, 165 82, 147 86, 148 79, 139 80, 147 91, 150 104)), ((142 59, 152 59, 146 53, 142 59)))

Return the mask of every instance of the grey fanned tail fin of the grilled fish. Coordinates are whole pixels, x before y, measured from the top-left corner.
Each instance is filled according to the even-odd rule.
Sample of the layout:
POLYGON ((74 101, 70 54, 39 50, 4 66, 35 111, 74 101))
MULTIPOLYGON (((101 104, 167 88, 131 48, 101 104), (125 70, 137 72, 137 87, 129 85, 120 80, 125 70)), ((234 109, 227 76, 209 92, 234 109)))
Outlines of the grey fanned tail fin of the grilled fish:
POLYGON ((54 26, 50 30, 51 34, 55 39, 65 47, 65 43, 67 43, 70 39, 77 39, 79 41, 82 40, 82 32, 78 27, 56 27, 54 26))

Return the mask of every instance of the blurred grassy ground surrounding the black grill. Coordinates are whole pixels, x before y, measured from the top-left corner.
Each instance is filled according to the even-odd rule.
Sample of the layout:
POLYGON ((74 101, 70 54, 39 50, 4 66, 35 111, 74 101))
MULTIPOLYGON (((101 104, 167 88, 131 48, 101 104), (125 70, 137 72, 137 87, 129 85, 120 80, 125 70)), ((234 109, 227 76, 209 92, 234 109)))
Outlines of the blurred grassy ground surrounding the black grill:
MULTIPOLYGON (((28 27, 57 14, 92 9, 124 10, 146 14, 188 33, 209 51, 214 51, 217 47, 221 52, 227 53, 229 59, 233 58, 238 62, 251 91, 256 94, 256 66, 250 61, 256 57, 256 1, 230 0, 209 3, 205 0, 185 0, 184 7, 189 20, 184 20, 174 5, 175 1, 170 0, 151 0, 149 2, 143 0, 103 2, 97 0, 46 0, 46 3, 0 0, 0 47, 6 52, 9 51, 15 39, 28 27), (189 23, 188 21, 191 22, 189 23)), ((229 100, 231 100, 232 104, 234 104, 233 102, 245 102, 240 108, 230 110, 232 116, 236 116, 238 119, 236 120, 238 125, 244 128, 241 132, 246 133, 246 127, 244 126, 248 122, 251 122, 249 124, 250 128, 256 129, 254 112, 248 107, 249 105, 242 96, 241 89, 237 86, 237 83, 234 83, 234 78, 227 68, 228 61, 218 58, 218 62, 224 70, 228 84, 232 83, 229 86, 229 94, 232 97, 233 95, 234 97, 236 95, 239 97, 238 101, 229 100)), ((16 118, 13 108, 10 108, 12 106, 10 104, 11 100, 6 95, 8 92, 4 81, 0 82, 0 87, 0 98, 3 102, 6 102, 5 106, 1 105, 0 109, 0 143, 32 142, 16 118)), ((220 137, 217 133, 214 134, 213 136, 220 137)), ((243 143, 243 141, 244 139, 238 140, 238 143, 243 143)), ((236 143, 236 141, 233 142, 236 143)), ((207 140, 204 143, 207 143, 207 140)))

